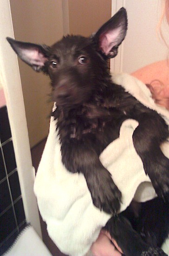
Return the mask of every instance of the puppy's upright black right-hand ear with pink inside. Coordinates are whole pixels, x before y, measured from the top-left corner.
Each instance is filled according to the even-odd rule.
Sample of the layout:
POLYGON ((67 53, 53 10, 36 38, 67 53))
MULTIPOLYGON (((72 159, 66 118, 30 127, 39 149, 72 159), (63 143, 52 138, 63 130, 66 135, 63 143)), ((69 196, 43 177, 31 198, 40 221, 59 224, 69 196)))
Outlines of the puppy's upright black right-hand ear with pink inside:
POLYGON ((114 58, 117 55, 118 46, 124 40, 126 32, 127 13, 124 8, 121 8, 94 35, 98 50, 108 58, 114 58))

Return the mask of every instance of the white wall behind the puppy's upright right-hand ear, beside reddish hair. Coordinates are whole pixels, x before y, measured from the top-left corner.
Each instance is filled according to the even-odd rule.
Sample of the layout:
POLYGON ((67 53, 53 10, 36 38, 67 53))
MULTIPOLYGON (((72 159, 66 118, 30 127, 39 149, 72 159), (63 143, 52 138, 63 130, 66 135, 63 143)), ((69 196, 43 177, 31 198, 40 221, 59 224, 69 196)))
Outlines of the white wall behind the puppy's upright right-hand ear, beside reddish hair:
MULTIPOLYGON (((125 7, 128 32, 119 54, 111 61, 111 71, 131 73, 155 61, 167 59, 168 49, 156 33, 163 0, 112 0, 112 15, 125 7)), ((169 27, 163 26, 166 38, 169 27)))

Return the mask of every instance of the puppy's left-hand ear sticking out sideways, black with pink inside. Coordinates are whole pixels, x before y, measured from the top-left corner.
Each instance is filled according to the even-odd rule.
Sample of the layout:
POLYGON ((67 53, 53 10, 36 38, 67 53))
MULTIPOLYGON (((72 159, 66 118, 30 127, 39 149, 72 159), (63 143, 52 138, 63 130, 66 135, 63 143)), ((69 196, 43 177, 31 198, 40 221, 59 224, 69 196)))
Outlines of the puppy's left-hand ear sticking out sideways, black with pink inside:
POLYGON ((20 42, 10 37, 7 37, 7 41, 22 61, 26 62, 26 64, 31 66, 37 72, 42 70, 42 67, 48 60, 47 53, 49 51, 49 47, 45 45, 20 42))

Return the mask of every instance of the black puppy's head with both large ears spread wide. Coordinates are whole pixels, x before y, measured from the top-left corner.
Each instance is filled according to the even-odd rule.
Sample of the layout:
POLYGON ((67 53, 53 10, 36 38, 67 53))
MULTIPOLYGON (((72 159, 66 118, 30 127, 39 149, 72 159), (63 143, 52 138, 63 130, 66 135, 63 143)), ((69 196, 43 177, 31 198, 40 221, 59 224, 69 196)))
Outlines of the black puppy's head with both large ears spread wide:
POLYGON ((50 76, 53 101, 74 107, 91 99, 126 31, 127 14, 121 8, 89 38, 68 35, 51 47, 7 40, 22 61, 50 76))

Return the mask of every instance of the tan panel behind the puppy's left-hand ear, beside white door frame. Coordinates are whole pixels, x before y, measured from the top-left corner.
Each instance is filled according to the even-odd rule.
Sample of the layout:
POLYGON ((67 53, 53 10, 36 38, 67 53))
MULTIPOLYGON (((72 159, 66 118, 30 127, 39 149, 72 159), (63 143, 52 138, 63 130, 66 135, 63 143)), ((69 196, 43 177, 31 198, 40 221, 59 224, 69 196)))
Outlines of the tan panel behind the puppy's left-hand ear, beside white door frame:
MULTIPOLYGON (((10 0, 14 36, 17 40, 52 45, 63 36, 61 0, 10 0)), ((52 110, 49 80, 19 60, 31 148, 48 134, 52 110)))

